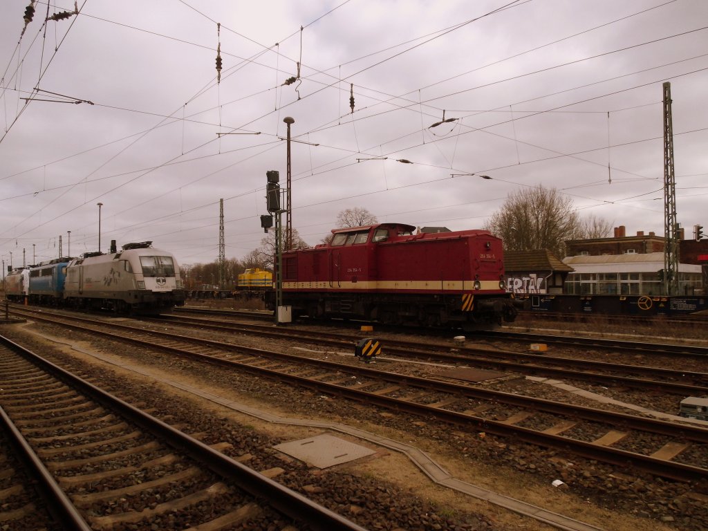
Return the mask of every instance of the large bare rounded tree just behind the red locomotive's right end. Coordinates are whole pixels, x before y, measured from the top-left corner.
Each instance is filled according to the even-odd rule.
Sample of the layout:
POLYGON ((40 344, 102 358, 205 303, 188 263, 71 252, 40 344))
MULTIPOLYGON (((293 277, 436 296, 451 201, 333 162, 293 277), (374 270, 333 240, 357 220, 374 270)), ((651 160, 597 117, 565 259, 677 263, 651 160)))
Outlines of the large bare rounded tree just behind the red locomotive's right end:
POLYGON ((549 249, 565 256, 565 240, 581 234, 581 220, 573 201, 555 188, 527 188, 510 194, 484 224, 504 241, 504 249, 549 249))

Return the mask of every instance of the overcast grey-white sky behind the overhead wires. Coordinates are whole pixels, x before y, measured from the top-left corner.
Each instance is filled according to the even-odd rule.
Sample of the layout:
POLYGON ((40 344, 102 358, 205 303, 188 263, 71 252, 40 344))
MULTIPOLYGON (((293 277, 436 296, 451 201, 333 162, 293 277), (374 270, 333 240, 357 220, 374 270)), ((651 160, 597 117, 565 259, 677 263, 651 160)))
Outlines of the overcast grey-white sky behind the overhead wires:
POLYGON ((66 255, 69 231, 73 256, 96 251, 98 202, 103 251, 152 240, 212 262, 219 198, 242 258, 264 236, 265 171, 285 185, 286 116, 311 245, 351 207, 481 228, 538 185, 663 236, 665 81, 678 222, 708 226, 704 0, 79 0, 45 23, 74 10, 52 1, 23 33, 28 4, 0 4, 6 265, 57 257, 59 236, 66 255))

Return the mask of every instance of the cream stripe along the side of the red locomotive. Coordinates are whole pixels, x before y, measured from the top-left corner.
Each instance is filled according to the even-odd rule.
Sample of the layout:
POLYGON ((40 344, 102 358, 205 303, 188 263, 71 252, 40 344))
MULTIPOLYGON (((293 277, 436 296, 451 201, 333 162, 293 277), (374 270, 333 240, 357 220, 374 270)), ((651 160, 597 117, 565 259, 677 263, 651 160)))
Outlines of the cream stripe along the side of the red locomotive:
POLYGON ((474 289, 474 280, 379 280, 362 282, 282 282, 284 290, 430 290, 430 291, 499 291, 498 280, 480 280, 480 289, 474 289))

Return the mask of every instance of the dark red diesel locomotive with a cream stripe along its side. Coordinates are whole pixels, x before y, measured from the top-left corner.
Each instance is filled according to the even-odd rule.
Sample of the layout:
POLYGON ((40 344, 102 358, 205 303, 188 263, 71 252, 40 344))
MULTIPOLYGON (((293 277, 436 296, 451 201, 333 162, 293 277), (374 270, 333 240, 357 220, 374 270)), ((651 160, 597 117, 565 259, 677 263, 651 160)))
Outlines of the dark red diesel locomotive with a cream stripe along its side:
POLYGON ((330 244, 283 253, 282 304, 294 317, 464 329, 515 319, 500 239, 481 230, 414 230, 396 223, 335 229, 330 244))

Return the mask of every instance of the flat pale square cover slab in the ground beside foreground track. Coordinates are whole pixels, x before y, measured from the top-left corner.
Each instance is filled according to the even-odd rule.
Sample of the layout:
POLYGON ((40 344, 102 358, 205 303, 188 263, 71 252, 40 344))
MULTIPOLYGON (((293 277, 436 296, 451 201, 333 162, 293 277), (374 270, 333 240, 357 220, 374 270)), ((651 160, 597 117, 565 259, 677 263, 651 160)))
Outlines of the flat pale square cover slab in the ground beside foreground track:
POLYGON ((282 445, 274 446, 274 448, 321 469, 376 453, 370 448, 333 435, 316 435, 307 439, 283 442, 282 445))

